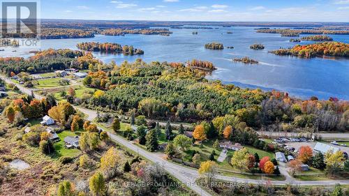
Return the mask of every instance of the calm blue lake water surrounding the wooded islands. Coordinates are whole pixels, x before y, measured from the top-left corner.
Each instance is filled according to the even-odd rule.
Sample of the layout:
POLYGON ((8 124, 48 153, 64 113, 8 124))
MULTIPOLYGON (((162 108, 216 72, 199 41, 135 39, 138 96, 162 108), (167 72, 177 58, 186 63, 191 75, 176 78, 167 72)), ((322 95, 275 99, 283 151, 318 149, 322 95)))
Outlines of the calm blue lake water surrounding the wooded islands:
MULTIPOLYGON (((300 59, 291 56, 276 56, 268 51, 279 47, 292 47, 290 38, 279 34, 255 33, 256 27, 218 27, 218 29, 171 29, 171 36, 96 36, 95 38, 41 40, 41 48, 77 49, 80 42, 114 42, 121 45, 133 45, 144 50, 144 55, 124 56, 122 54, 94 53, 105 62, 112 60, 121 63, 124 60, 134 61, 188 61, 201 59, 211 61, 218 70, 209 79, 222 80, 242 87, 277 89, 287 91, 290 96, 309 98, 317 96, 328 99, 330 96, 349 100, 349 59, 300 59), (198 35, 192 35, 198 31, 198 35), (227 31, 232 31, 228 34, 227 31), (205 43, 223 43, 224 50, 205 50, 205 43), (250 45, 261 43, 265 50, 251 50, 250 45), (234 49, 226 47, 233 46, 234 49), (248 56, 260 63, 245 65, 232 62, 235 57, 248 56)), ((302 35, 303 36, 303 35, 302 35)), ((349 43, 349 36, 330 35, 334 40, 349 43)), ((302 41, 301 44, 313 42, 302 41)), ((29 56, 28 50, 11 49, 0 52, 1 56, 29 56)))

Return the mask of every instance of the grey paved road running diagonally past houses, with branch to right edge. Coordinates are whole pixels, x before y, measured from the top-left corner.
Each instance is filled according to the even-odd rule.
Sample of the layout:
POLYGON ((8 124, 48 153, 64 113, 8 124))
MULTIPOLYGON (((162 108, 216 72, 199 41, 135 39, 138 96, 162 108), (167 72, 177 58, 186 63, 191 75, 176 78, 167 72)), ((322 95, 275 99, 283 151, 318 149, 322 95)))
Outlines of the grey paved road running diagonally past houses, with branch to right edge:
MULTIPOLYGON (((0 76, 4 80, 6 80, 7 83, 15 84, 14 82, 4 78, 3 76, 0 76)), ((19 84, 15 84, 23 93, 30 94, 31 90, 26 89, 23 86, 19 84)), ((43 98, 43 96, 35 95, 36 98, 43 98)), ((77 110, 80 110, 84 114, 87 114, 88 120, 93 120, 97 116, 97 112, 94 110, 88 110, 84 109, 82 107, 75 107, 77 110)), ((101 128, 103 129, 103 128, 101 128)), ((163 169, 165 169, 166 172, 172 174, 174 177, 179 179, 182 183, 186 184, 189 188, 194 190, 199 195, 210 195, 205 190, 202 190, 199 186, 195 185, 195 179, 198 179, 199 174, 197 169, 191 169, 188 167, 184 167, 182 165, 177 165, 174 163, 169 162, 168 160, 163 159, 163 154, 161 153, 150 153, 148 151, 145 151, 144 149, 140 149, 137 145, 133 144, 132 142, 129 142, 128 140, 125 140, 123 137, 119 135, 114 135, 113 133, 108 133, 110 138, 119 144, 122 144, 123 146, 126 146, 128 149, 131 149, 132 151, 139 153, 144 158, 147 158, 148 160, 151 160, 153 163, 158 163, 159 165, 163 166, 163 169)), ((283 167, 281 167, 281 172, 284 172, 285 170, 283 167)), ((285 181, 265 181, 265 180, 254 180, 254 179, 241 179, 241 178, 235 178, 233 176, 222 176, 217 175, 216 179, 221 179, 225 181, 232 181, 236 183, 253 183, 253 184, 263 184, 263 183, 272 183, 274 185, 285 185, 285 184, 294 184, 294 185, 302 185, 302 186, 329 186, 329 185, 335 185, 336 183, 340 184, 349 184, 349 180, 339 180, 339 181, 297 181, 292 179, 291 177, 288 177, 286 175, 285 181)))

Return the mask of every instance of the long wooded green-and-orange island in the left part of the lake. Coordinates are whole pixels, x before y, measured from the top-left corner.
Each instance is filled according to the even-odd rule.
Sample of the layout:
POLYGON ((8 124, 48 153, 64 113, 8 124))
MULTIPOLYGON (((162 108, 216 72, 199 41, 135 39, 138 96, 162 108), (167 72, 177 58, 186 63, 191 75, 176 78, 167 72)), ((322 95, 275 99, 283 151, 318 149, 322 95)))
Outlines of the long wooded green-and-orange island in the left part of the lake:
POLYGON ((78 43, 77 48, 90 52, 117 52, 128 55, 144 54, 143 50, 135 49, 133 46, 121 46, 118 43, 78 43))

